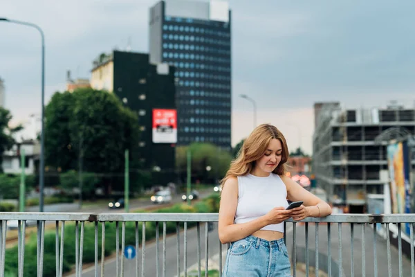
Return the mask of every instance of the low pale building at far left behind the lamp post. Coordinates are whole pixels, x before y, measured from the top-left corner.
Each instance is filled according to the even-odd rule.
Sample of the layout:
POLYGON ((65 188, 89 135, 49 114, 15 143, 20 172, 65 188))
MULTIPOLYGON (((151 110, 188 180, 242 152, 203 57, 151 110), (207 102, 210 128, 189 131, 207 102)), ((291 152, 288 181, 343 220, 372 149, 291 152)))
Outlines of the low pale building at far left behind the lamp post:
POLYGON ((37 141, 22 141, 13 145, 12 149, 3 153, 3 172, 6 174, 21 173, 21 150, 25 154, 25 173, 35 174, 37 161, 39 161, 40 145, 37 141))

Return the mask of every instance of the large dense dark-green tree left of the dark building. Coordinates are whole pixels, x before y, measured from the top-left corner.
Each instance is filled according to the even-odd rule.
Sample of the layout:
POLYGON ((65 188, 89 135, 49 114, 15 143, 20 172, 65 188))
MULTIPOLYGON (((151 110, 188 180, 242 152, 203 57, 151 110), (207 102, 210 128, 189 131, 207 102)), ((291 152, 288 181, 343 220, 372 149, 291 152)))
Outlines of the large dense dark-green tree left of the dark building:
MULTIPOLYGON (((124 172, 124 150, 138 141, 138 117, 115 94, 91 88, 57 92, 45 114, 48 166, 63 172, 82 166, 107 176, 124 172)), ((108 188, 111 179, 103 180, 108 188)))

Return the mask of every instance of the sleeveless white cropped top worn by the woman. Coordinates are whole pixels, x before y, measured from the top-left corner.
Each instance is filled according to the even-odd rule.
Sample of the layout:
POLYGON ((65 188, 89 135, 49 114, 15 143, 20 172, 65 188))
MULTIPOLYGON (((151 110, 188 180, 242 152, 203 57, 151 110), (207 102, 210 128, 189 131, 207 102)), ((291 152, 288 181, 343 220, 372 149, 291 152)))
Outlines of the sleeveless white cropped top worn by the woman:
MULTIPOLYGON (((287 189, 282 179, 271 173, 268 177, 251 174, 238 176, 238 206, 234 223, 246 223, 266 215, 275 207, 288 207, 287 189)), ((261 230, 284 233, 284 223, 270 224, 261 230)))

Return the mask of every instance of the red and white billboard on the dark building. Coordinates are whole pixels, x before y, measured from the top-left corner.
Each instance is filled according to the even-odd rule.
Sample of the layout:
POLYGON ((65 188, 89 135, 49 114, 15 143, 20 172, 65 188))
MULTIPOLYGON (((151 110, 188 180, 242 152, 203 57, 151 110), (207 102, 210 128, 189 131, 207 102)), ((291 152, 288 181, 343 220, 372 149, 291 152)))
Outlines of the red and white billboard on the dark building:
POLYGON ((177 143, 176 109, 153 109, 153 143, 177 143))

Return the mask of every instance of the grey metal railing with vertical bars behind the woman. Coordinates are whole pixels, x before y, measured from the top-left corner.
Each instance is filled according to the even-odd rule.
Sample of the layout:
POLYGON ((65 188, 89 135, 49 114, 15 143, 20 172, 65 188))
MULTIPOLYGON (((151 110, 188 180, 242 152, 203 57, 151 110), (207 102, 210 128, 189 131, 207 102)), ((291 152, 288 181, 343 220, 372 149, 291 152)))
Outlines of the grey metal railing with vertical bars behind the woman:
MULTIPOLYGON (((201 276, 203 269, 212 269, 212 256, 216 257, 213 259, 216 263, 214 268, 219 270, 221 276, 227 248, 225 246, 225 250, 222 251, 223 244, 219 242, 217 231, 212 231, 212 224, 206 224, 217 222, 217 213, 0 213, 0 277, 7 276, 5 269, 10 269, 6 262, 17 265, 18 276, 29 276, 24 265, 31 260, 25 255, 25 250, 28 249, 25 248, 25 244, 28 229, 32 227, 26 224, 33 220, 37 222, 35 276, 64 275, 64 268, 68 269, 68 265, 64 265, 64 256, 73 256, 73 253, 67 253, 68 249, 65 250, 65 247, 71 247, 65 240, 73 237, 75 276, 201 276), (8 222, 15 220, 18 221, 17 261, 7 256, 8 251, 13 249, 10 245, 6 247, 6 244, 10 244, 8 222), (66 227, 70 225, 74 229, 68 231, 66 227), (204 240, 201 241, 203 226, 204 240), (113 231, 115 238, 109 235, 113 231), (51 250, 50 242, 46 240, 50 239, 53 233, 54 249, 51 250), (108 248, 109 244, 114 243, 113 239, 113 250, 120 250, 115 251, 115 261, 114 257, 106 257, 110 254, 108 248), (132 250, 126 252, 126 242, 132 244, 136 250, 133 260, 130 260, 132 250), (163 244, 161 253, 160 243, 163 244), (91 244, 93 251, 88 251, 87 256, 84 252, 91 244), (169 253, 174 254, 167 255, 167 248, 169 253), (46 254, 54 255, 53 274, 44 272, 46 254), (92 254, 93 258, 90 257, 92 254), (86 258, 91 261, 91 265, 85 271, 83 262, 86 258), (191 265, 191 260, 196 262, 191 265), (190 269, 194 271, 190 273, 190 269), (115 273, 111 273, 111 270, 115 270, 115 273)), ((293 265, 305 265, 304 272, 301 273, 305 276, 311 274, 311 271, 319 270, 326 272, 328 276, 415 276, 414 223, 414 214, 342 214, 308 218, 302 222, 288 220, 285 223, 284 239, 291 253, 293 265), (311 243, 313 238, 314 242, 311 243), (391 244, 396 244, 397 249, 391 244)), ((50 265, 48 266, 50 268, 50 265)), ((299 269, 293 266, 293 276, 299 274, 299 269)), ((205 270, 205 276, 208 276, 208 270, 205 270)))

